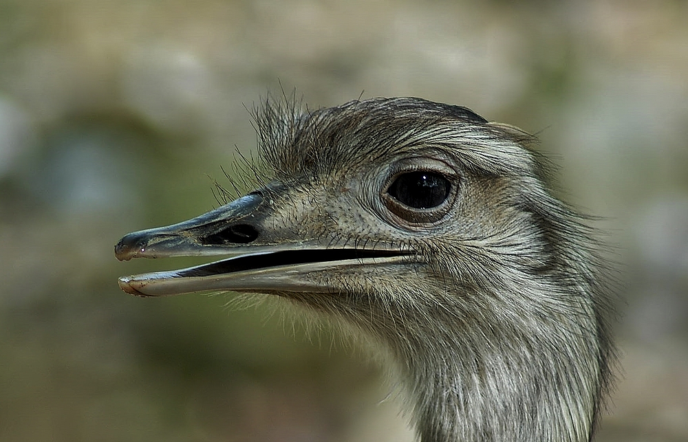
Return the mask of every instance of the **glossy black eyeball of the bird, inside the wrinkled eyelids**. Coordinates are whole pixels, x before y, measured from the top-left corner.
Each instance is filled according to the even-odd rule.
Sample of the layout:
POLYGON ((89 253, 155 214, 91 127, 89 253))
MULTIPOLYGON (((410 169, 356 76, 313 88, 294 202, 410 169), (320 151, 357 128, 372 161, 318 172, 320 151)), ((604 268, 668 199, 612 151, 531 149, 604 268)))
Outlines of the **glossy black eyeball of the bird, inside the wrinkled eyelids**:
POLYGON ((411 172, 398 177, 387 192, 401 203, 416 209, 429 209, 442 204, 451 185, 442 175, 411 172))

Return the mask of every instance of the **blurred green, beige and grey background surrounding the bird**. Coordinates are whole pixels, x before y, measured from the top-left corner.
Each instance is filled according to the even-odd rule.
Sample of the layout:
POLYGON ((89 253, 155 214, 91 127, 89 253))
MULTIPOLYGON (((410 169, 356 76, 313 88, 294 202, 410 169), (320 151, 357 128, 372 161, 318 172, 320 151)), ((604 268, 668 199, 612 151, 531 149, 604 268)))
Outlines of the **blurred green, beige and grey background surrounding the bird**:
POLYGON ((522 127, 619 247, 598 441, 688 440, 686 1, 0 0, 0 440, 411 441, 378 368, 229 296, 139 299, 132 230, 217 206, 246 107, 421 96, 522 127))

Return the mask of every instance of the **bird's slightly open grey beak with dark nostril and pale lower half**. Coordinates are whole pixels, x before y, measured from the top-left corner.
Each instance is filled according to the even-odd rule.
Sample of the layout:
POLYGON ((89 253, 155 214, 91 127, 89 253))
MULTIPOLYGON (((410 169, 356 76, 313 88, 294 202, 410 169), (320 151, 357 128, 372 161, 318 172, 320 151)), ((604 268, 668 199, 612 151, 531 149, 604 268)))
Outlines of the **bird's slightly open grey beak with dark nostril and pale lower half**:
POLYGON ((127 234, 115 246, 120 261, 168 256, 233 257, 170 272, 122 276, 119 286, 136 296, 226 290, 327 293, 334 287, 325 282, 328 278, 322 277, 323 272, 336 275, 347 267, 409 261, 409 251, 391 244, 375 243, 372 248, 338 245, 331 239, 292 233, 299 232, 298 225, 277 231, 268 228, 278 224, 272 222, 272 217, 274 208, 256 192, 189 221, 127 234))

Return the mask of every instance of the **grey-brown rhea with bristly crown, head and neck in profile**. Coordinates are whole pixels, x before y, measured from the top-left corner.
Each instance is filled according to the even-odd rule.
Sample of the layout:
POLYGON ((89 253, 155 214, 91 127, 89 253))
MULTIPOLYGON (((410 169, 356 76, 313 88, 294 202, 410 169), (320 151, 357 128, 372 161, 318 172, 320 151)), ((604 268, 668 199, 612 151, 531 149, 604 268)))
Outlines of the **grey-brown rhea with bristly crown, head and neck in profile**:
POLYGON ((115 247, 229 257, 122 290, 266 294, 347 324, 397 373, 422 442, 590 441, 614 355, 607 266, 533 137, 420 98, 268 100, 253 124, 255 190, 115 247))

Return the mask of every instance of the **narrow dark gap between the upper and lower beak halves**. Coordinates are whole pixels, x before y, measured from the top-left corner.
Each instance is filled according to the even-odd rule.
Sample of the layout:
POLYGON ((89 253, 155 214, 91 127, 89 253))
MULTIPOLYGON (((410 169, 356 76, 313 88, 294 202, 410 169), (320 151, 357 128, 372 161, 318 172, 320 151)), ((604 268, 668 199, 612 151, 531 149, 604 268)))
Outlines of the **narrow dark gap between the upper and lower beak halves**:
POLYGON ((250 254, 200 265, 191 269, 177 272, 178 276, 198 277, 217 274, 243 272, 245 270, 279 267, 281 265, 295 265, 306 263, 323 263, 328 261, 345 261, 365 258, 391 258, 405 256, 409 253, 394 250, 358 250, 358 249, 312 249, 312 250, 283 250, 264 254, 250 254))

